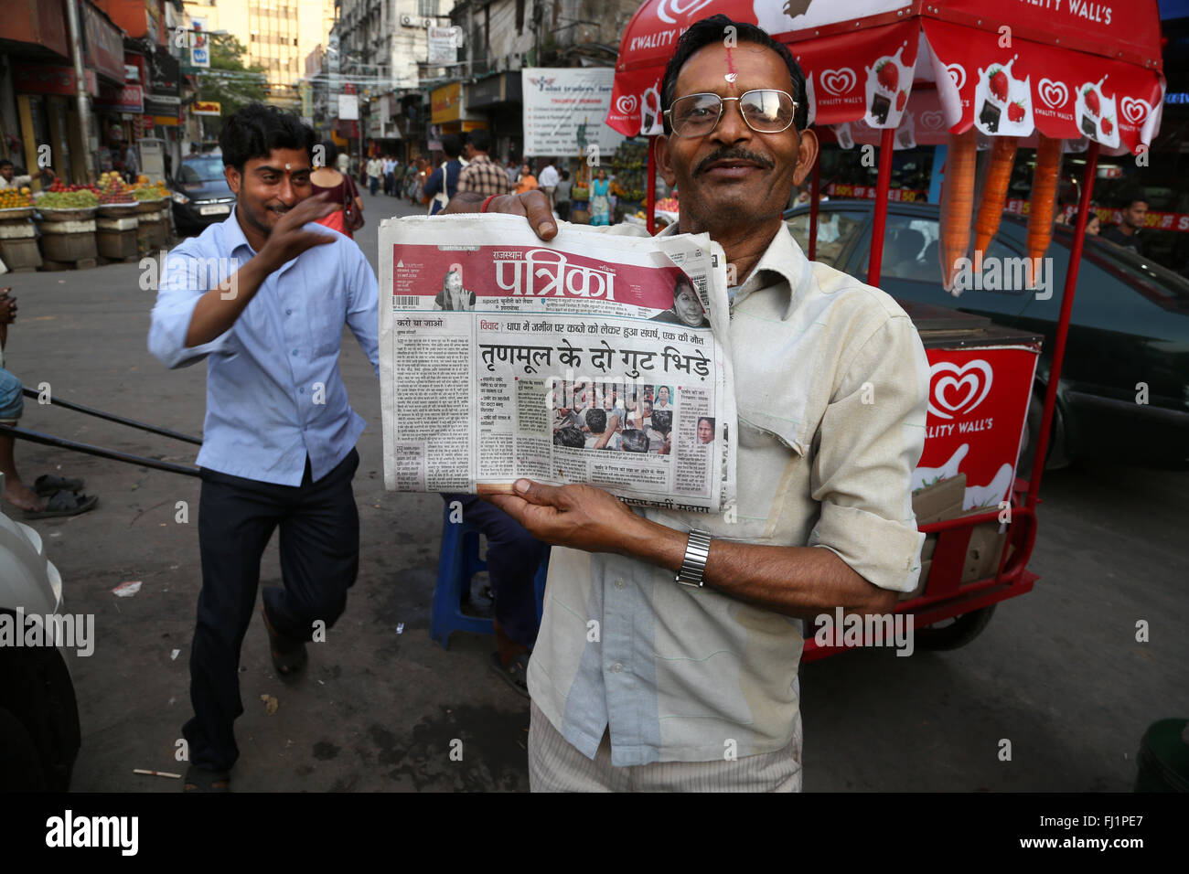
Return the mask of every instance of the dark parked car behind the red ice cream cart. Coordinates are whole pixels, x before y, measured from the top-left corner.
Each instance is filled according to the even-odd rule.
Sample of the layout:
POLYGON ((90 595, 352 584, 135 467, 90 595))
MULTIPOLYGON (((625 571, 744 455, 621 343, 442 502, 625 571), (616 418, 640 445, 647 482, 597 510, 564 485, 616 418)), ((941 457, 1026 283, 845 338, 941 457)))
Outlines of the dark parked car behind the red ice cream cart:
MULTIPOLYGON (((817 259, 866 279, 873 212, 869 200, 820 203, 817 259)), ((998 325, 1043 334, 1027 426, 1036 434, 1072 228, 1056 226, 1046 253, 1052 265, 1046 300, 1024 288, 1026 283, 954 296, 942 287, 938 213, 936 203, 888 205, 880 287, 901 301, 976 313, 998 325)), ((809 207, 789 209, 785 218, 807 250, 809 207)), ((1025 258, 1026 240, 1026 219, 1005 214, 987 249, 984 276, 989 278, 993 258, 1025 258)), ((1032 442, 1027 440, 1021 455, 1024 476, 1032 442)), ((1072 458, 1189 466, 1189 279, 1096 237, 1086 238, 1082 252, 1046 464, 1059 466, 1072 458)))

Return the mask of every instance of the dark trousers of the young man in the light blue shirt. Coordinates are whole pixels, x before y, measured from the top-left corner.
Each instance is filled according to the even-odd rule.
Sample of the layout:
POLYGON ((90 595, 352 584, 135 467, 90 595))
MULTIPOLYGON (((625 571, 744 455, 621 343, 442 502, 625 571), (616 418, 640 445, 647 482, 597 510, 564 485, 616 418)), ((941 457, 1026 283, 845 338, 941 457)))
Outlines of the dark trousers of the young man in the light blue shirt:
POLYGON ((239 757, 232 730, 244 712, 239 650, 254 612, 260 557, 278 526, 284 589, 264 590, 272 627, 308 641, 316 620, 331 628, 342 615, 359 570, 359 511, 351 489, 358 466, 352 449, 315 483, 307 459, 296 486, 202 471, 202 591, 190 648, 194 718, 182 729, 191 763, 225 771, 239 757))

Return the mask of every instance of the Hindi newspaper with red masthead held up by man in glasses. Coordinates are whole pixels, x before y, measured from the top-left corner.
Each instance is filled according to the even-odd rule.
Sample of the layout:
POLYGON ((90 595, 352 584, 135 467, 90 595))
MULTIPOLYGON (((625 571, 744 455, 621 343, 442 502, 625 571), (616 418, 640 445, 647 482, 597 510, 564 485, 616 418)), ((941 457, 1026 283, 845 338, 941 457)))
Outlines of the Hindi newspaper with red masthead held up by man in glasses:
POLYGON ((521 216, 379 229, 384 484, 520 477, 628 503, 735 502, 726 269, 706 234, 540 240, 521 216))

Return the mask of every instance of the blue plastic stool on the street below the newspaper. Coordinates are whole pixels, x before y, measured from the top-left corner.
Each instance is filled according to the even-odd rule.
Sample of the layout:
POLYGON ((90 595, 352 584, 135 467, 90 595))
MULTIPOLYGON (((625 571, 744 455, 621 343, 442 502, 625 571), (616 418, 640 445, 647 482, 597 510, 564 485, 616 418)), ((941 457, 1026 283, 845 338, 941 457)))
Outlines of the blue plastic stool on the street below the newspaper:
MULTIPOLYGON (((454 631, 471 634, 495 634, 492 620, 467 616, 463 612, 463 593, 471 589, 474 574, 487 570, 487 562, 479 558, 478 526, 470 522, 451 522, 449 505, 442 511, 442 548, 438 558, 438 584, 434 586, 434 603, 429 614, 429 636, 449 649, 449 636, 454 631)), ((549 571, 549 547, 545 548, 541 564, 533 578, 536 591, 536 621, 545 612, 545 580, 549 571)))

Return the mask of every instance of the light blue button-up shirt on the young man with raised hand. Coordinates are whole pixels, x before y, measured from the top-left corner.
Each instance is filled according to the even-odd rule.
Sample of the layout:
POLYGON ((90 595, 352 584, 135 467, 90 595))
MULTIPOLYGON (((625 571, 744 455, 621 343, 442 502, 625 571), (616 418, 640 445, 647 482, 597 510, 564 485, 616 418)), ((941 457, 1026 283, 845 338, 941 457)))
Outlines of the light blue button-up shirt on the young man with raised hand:
POLYGON ((207 416, 197 464, 277 485, 301 485, 309 457, 315 480, 354 447, 366 427, 339 375, 348 325, 379 376, 379 289, 359 246, 334 234, 287 262, 260 285, 235 323, 208 344, 185 347, 202 294, 256 252, 235 213, 166 258, 149 329, 149 351, 166 367, 207 358, 207 416))

